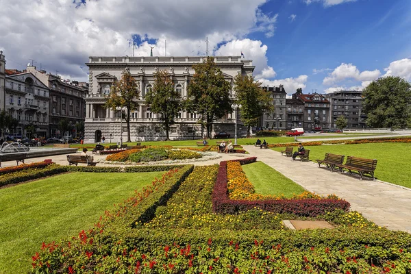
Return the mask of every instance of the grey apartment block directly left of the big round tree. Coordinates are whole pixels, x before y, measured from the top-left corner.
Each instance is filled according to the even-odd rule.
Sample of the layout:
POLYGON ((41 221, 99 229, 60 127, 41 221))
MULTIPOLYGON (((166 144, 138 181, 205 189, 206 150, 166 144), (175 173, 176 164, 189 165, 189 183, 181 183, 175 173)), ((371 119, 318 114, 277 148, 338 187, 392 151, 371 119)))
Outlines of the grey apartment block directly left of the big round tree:
POLYGON ((329 119, 332 127, 336 128, 336 119, 345 116, 347 128, 365 128, 366 114, 362 112, 362 91, 339 90, 326 95, 331 105, 329 119))

